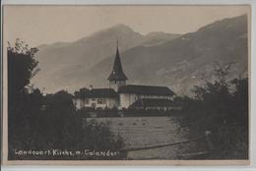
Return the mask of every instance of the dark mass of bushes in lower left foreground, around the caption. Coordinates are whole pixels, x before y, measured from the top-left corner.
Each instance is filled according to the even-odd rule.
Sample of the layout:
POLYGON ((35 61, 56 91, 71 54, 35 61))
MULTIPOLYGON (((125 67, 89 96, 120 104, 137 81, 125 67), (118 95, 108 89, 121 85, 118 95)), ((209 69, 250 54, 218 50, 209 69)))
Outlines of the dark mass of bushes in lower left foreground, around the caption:
MULTIPOLYGON (((36 92, 37 93, 37 92, 36 92)), ((40 94, 41 95, 41 94, 40 94)), ((28 98, 33 98, 30 94, 28 98)), ((82 118, 75 111, 72 96, 66 91, 48 94, 43 97, 43 110, 30 113, 30 117, 22 121, 26 124, 15 123, 14 140, 9 146, 10 159, 123 159, 125 152, 121 152, 124 143, 120 137, 111 134, 107 124, 96 123, 91 120, 83 127, 82 118), (24 127, 26 126, 26 127, 24 127), (24 128, 23 128, 24 127, 24 128), (83 151, 76 156, 17 156, 14 149, 22 150, 50 150, 54 149, 83 151), (86 155, 85 150, 109 151, 115 153, 112 156, 86 155)), ((35 98, 37 99, 37 97, 35 98)), ((32 102, 32 100, 28 100, 32 102)), ((33 101, 34 102, 34 101, 33 101)), ((30 106, 30 105, 29 105, 30 106)), ((32 108, 29 108, 30 110, 32 108)))

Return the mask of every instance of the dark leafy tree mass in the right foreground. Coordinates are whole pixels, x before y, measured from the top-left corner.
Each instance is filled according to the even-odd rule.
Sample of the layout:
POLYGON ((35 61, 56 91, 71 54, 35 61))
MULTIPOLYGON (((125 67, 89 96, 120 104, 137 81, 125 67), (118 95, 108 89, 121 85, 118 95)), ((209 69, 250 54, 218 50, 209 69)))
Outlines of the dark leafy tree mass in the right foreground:
POLYGON ((214 82, 195 86, 184 121, 192 137, 212 131, 210 158, 248 158, 248 78, 228 81, 231 64, 218 64, 214 82))

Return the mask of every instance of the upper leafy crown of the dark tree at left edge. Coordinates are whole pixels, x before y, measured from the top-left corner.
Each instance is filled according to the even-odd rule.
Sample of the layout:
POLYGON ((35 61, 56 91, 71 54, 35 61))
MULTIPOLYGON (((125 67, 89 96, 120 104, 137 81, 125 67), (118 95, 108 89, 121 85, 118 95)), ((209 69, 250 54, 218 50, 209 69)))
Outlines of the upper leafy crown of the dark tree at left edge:
POLYGON ((38 61, 34 59, 37 48, 30 48, 28 44, 16 39, 14 47, 8 46, 8 92, 10 102, 13 102, 16 95, 26 91, 33 76, 38 73, 38 61))

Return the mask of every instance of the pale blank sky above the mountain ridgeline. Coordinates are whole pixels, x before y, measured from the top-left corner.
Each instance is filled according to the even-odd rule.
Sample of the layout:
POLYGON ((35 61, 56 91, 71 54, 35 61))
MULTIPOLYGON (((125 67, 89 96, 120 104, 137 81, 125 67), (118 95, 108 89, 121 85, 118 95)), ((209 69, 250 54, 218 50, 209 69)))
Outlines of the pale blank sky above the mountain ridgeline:
POLYGON ((217 20, 249 14, 248 6, 5 6, 4 41, 31 46, 71 42, 124 24, 141 34, 186 33, 217 20))

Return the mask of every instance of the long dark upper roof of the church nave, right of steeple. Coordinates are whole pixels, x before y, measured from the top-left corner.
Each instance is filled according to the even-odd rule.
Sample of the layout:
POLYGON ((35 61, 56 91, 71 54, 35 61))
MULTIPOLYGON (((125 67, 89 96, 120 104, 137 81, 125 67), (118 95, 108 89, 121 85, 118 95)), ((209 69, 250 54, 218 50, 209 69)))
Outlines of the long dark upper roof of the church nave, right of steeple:
POLYGON ((136 93, 145 95, 174 95, 175 93, 167 86, 153 85, 122 85, 118 93, 136 93))

